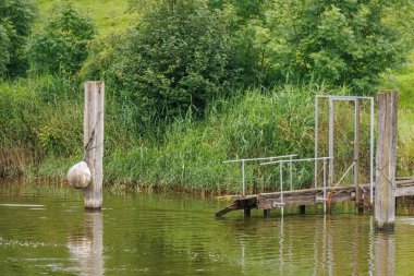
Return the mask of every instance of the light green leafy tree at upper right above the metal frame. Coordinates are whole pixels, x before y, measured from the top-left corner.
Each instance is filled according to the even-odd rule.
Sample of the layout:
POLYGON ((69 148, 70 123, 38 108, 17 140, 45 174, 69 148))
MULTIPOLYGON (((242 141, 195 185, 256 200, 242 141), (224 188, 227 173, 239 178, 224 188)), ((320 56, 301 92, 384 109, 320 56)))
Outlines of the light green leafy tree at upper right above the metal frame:
POLYGON ((361 92, 406 56, 383 9, 377 0, 276 0, 256 26, 255 47, 277 80, 316 77, 361 92))

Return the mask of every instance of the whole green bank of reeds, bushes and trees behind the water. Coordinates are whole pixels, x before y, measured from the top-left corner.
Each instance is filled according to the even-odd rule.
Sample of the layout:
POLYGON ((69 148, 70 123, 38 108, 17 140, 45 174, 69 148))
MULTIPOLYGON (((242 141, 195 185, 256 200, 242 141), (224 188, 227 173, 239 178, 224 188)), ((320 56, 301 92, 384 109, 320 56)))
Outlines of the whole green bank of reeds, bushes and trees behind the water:
MULTIPOLYGON (((332 3, 324 8, 318 26, 305 21, 289 33, 291 22, 280 21, 289 16, 276 13, 276 8, 288 9, 283 1, 280 7, 264 1, 253 1, 254 7, 230 0, 197 0, 202 5, 180 0, 173 7, 175 1, 148 1, 162 3, 160 9, 150 4, 137 9, 139 0, 107 1, 104 14, 89 10, 95 2, 76 1, 76 9, 63 4, 62 10, 52 1, 38 1, 39 14, 54 9, 53 14, 63 15, 33 23, 32 37, 25 38, 32 49, 27 73, 10 75, 11 63, 5 63, 0 79, 1 182, 65 183, 68 169, 83 157, 83 82, 93 79, 106 82, 104 185, 113 192, 241 193, 240 165, 222 161, 288 154, 313 157, 315 95, 375 96, 383 88, 400 91, 398 177, 414 175, 414 53, 409 53, 413 36, 404 36, 410 41, 381 41, 381 49, 370 40, 363 46, 377 47, 376 52, 356 51, 355 47, 364 48, 356 43, 362 39, 357 24, 379 37, 387 34, 374 23, 364 25, 365 17, 345 22, 344 14, 357 10, 368 16, 363 12, 373 7, 332 3), (180 9, 184 12, 175 14, 180 9), (82 15, 82 10, 97 22, 82 15), (138 26, 130 27, 132 22, 138 26), (199 24, 188 27, 194 22, 199 24), (352 24, 356 25, 352 28, 352 24), (148 26, 159 32, 154 34, 148 26), (319 33, 313 34, 308 26, 319 33), (287 33, 277 40, 281 27, 287 33), (336 36, 341 32, 354 37, 355 45, 336 36), (308 45, 306 39, 314 43, 308 45), (57 48, 44 52, 48 45, 57 48), (331 45, 332 51, 318 48, 325 45, 331 45), (397 57, 394 47, 405 56, 397 57), (400 68, 380 63, 403 59, 409 62, 400 68), (361 65, 369 60, 369 68, 361 65), (372 75, 365 77, 364 70, 372 75)), ((293 12, 307 20, 316 12, 296 8, 293 12)), ((401 9, 401 19, 407 16, 404 11, 414 9, 401 9)), ((404 27, 414 29, 409 21, 402 25, 395 19, 370 20, 389 21, 387 26, 394 27, 395 34, 404 27)), ((339 104, 336 110, 338 171, 352 161, 352 108, 339 104)), ((327 105, 322 103, 320 110, 319 156, 327 155, 327 105)), ((367 181, 369 168, 368 110, 362 104, 362 181, 367 181)), ((248 193, 279 189, 276 167, 252 163, 245 173, 248 193)), ((314 165, 297 165, 293 175, 295 188, 312 185, 314 165)))

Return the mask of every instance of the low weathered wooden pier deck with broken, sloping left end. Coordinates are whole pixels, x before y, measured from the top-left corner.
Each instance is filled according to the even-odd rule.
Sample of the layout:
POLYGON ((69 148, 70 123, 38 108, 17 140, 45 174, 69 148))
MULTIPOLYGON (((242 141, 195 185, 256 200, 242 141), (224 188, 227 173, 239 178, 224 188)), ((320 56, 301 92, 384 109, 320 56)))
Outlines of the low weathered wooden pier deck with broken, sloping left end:
MULTIPOLYGON (((402 178, 395 181, 395 196, 414 195, 414 178, 402 178)), ((369 184, 361 184, 360 191, 362 201, 356 202, 356 188, 354 185, 327 187, 326 201, 327 205, 338 202, 355 202, 357 206, 370 206, 369 203, 369 184)), ((375 192, 375 183, 374 183, 375 192)), ((283 206, 306 206, 315 204, 324 204, 324 188, 310 188, 303 190, 259 193, 254 195, 232 195, 232 204, 216 213, 216 217, 224 214, 244 209, 245 214, 249 214, 252 208, 269 211, 275 207, 283 206)))

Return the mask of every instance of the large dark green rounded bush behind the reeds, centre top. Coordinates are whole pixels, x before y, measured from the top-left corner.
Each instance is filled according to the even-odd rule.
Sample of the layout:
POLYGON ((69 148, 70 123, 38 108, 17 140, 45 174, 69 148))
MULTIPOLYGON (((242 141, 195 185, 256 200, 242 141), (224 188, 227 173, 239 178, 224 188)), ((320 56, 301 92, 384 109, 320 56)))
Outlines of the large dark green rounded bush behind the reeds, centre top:
MULTIPOLYGON (((226 19, 202 0, 159 1, 146 10, 124 44, 107 47, 107 52, 117 48, 119 57, 110 67, 117 70, 109 71, 142 106, 143 118, 203 110, 226 92, 235 73, 226 19)), ((87 63, 90 72, 92 64, 100 62, 87 63)))

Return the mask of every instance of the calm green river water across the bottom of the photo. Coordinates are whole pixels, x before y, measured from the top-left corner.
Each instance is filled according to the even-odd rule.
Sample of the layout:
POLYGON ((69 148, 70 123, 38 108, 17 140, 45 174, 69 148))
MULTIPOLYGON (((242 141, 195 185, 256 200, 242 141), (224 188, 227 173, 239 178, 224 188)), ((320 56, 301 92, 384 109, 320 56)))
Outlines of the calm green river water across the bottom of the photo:
POLYGON ((414 275, 411 216, 383 235, 352 207, 216 219, 226 203, 105 194, 104 209, 86 213, 76 192, 4 189, 0 275, 414 275))

